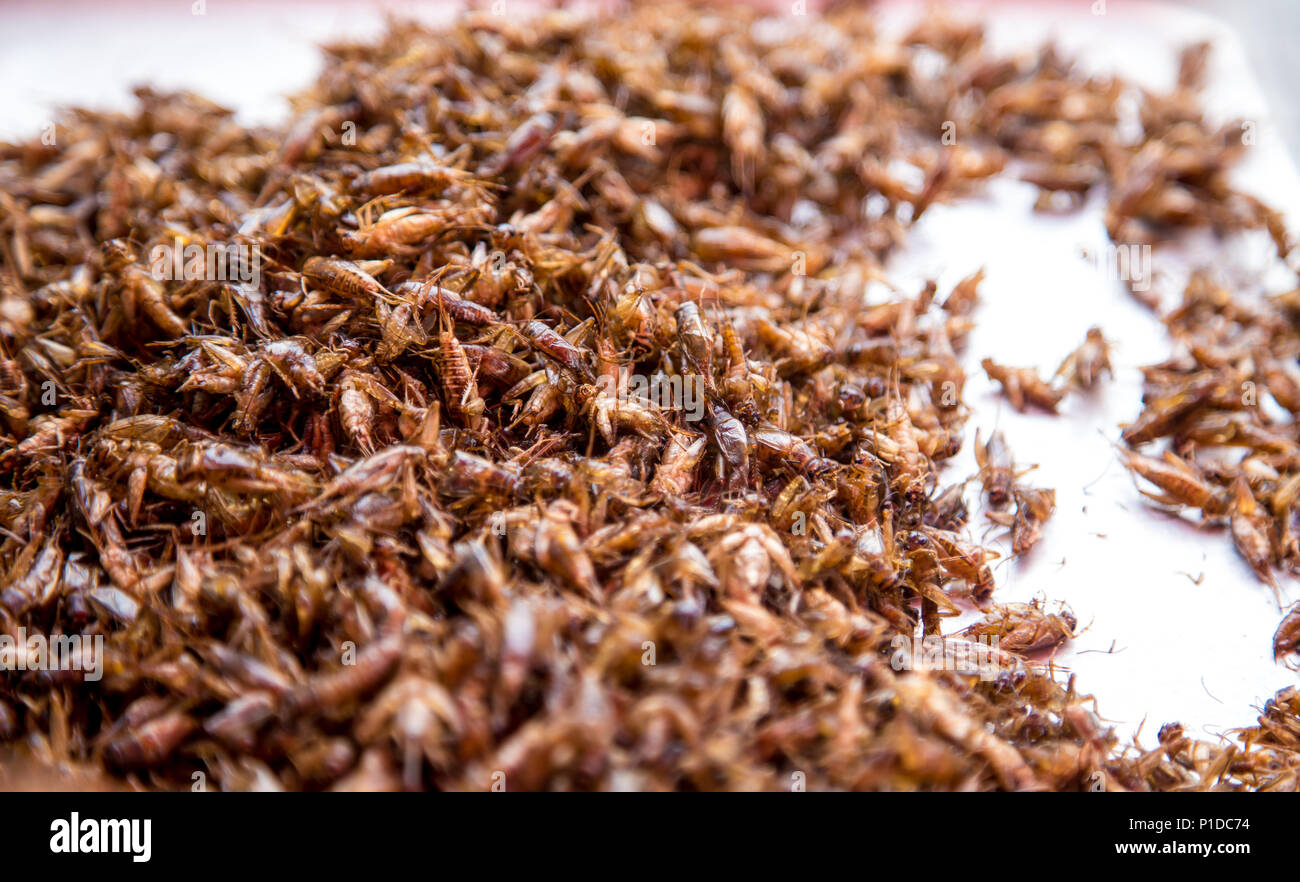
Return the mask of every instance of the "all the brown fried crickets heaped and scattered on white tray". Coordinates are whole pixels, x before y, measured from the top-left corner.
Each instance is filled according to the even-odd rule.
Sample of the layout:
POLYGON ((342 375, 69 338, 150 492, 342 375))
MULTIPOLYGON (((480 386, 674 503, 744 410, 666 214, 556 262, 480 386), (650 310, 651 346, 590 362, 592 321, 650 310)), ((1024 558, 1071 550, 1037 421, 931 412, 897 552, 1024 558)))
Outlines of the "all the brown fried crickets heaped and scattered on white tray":
MULTIPOLYGON (((862 9, 476 12, 328 47, 282 129, 140 88, 0 146, 0 628, 103 637, 98 673, 8 665, 0 742, 162 788, 1295 790, 1300 691, 1143 749, 1043 661, 1072 617, 993 598, 941 475, 982 276, 867 297, 1000 173, 1098 194, 1115 242, 1284 255, 1204 66, 1152 94, 862 9)), ((1300 434, 1242 388, 1300 408, 1297 316, 1195 278, 1124 436, 1270 579, 1300 434)), ((1054 408, 1106 343, 984 367, 1054 408)), ((998 434, 979 461, 1027 552, 1052 492, 998 434)))

